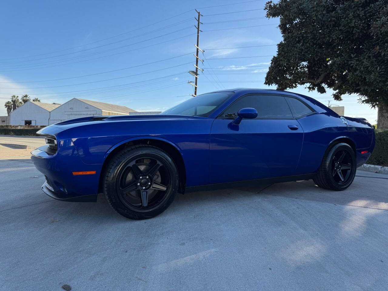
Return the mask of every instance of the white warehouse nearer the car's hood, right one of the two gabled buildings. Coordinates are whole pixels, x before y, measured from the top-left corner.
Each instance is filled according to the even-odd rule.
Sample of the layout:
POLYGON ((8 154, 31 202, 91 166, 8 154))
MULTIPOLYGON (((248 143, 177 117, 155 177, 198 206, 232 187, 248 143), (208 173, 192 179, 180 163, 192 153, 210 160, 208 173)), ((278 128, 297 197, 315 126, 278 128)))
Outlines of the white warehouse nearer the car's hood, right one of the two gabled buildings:
POLYGON ((73 98, 51 111, 49 125, 74 118, 101 115, 128 115, 130 112, 136 111, 126 106, 73 98))

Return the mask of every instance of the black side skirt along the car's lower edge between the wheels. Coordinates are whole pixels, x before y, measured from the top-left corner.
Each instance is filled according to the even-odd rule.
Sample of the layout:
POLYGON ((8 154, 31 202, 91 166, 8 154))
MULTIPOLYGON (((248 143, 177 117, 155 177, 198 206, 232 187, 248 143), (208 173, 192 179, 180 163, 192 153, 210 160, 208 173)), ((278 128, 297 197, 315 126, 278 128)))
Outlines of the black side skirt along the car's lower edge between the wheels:
POLYGON ((293 182, 293 181, 299 181, 299 180, 310 180, 314 177, 314 175, 315 173, 311 173, 306 175, 295 175, 295 176, 265 178, 265 179, 228 182, 228 183, 201 185, 201 186, 191 186, 191 187, 186 187, 185 192, 209 191, 209 190, 237 188, 237 187, 251 187, 251 186, 257 186, 262 184, 275 184, 275 183, 293 182))

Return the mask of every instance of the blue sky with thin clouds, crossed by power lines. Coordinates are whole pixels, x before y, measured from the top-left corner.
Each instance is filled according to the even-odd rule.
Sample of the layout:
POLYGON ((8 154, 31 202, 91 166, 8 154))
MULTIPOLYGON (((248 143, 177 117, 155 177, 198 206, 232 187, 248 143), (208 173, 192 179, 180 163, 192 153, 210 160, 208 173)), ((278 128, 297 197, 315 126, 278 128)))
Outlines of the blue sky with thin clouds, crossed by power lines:
MULTIPOLYGON (((279 19, 267 19, 266 0, 6 1, 0 17, 0 102, 28 94, 42 102, 73 97, 164 111, 191 98, 196 20, 201 16, 197 94, 264 85, 279 19), (5 29, 4 29, 5 28, 5 29)), ((338 102, 304 86, 290 90, 345 116, 376 123, 377 111, 356 95, 338 102)), ((0 115, 6 115, 0 106, 0 115)))

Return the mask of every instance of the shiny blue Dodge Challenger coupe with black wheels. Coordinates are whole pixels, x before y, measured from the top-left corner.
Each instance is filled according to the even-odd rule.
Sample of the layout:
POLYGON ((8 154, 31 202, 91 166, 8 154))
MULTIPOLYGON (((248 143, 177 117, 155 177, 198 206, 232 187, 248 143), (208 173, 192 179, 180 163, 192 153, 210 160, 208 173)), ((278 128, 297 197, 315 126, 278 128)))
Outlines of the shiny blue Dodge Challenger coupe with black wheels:
POLYGON ((372 126, 310 97, 237 88, 199 95, 159 115, 92 116, 38 131, 31 152, 42 190, 96 201, 132 219, 163 212, 177 192, 313 179, 340 191, 374 148, 372 126))

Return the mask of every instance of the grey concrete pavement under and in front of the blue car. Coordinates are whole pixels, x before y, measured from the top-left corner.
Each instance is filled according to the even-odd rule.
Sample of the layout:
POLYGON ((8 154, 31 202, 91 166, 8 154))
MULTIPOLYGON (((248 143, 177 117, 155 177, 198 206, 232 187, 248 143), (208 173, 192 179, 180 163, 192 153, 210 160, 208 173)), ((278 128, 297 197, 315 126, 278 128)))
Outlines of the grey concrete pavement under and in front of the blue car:
POLYGON ((178 195, 143 221, 43 194, 0 160, 0 290, 387 290, 388 175, 178 195), (259 192, 259 193, 258 193, 259 192))

